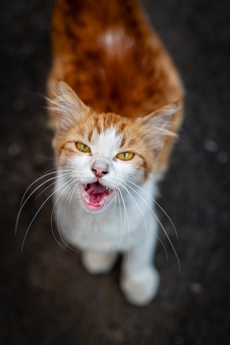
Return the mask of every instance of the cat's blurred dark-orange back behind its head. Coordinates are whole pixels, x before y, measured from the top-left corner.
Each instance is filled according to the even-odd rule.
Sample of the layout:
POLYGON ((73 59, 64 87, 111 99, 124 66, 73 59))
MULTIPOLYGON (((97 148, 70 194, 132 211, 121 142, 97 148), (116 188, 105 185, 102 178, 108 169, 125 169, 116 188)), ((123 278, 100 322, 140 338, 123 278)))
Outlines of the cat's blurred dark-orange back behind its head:
POLYGON ((98 112, 141 116, 182 99, 163 44, 135 0, 57 0, 52 20, 53 67, 98 112))

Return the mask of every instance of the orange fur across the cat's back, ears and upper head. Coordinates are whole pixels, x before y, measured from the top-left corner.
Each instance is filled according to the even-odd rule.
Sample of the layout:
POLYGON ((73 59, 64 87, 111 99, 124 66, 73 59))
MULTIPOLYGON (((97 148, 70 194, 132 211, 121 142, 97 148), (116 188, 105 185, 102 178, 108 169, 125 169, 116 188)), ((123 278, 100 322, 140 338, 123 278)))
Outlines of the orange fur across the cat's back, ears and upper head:
MULTIPOLYGON (((164 170, 174 140, 169 132, 177 133, 182 119, 183 87, 139 4, 135 0, 57 0, 52 45, 48 91, 56 104, 50 116, 59 163, 63 164, 63 154, 77 154, 71 141, 79 138, 90 146, 93 132, 114 126, 123 136, 121 149, 143 157, 145 176, 150 171, 164 170), (56 98, 58 81, 73 90, 64 84, 59 86, 61 101, 56 98), (66 120, 60 118, 70 115, 67 110, 60 114, 55 107, 62 102, 67 109, 68 102, 74 104, 78 98, 85 117, 77 120, 73 115, 70 128, 65 124, 68 128, 63 130, 61 122, 66 120), (157 117, 156 110, 171 103, 177 105, 177 110, 172 111, 170 120, 165 119, 169 132, 163 125, 165 139, 154 147, 154 130, 150 131, 144 119, 157 117), (150 155, 154 156, 154 164, 150 163, 150 155)), ((156 127, 159 130, 159 124, 156 127)), ((157 135, 155 140, 157 144, 157 135)))

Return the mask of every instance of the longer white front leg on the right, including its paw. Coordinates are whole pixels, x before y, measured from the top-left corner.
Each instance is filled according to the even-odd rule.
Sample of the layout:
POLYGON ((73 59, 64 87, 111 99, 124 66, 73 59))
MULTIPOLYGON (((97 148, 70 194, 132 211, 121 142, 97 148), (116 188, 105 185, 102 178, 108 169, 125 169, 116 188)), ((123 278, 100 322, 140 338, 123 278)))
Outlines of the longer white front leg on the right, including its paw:
POLYGON ((147 305, 156 295, 159 274, 153 265, 157 237, 148 234, 148 243, 130 248, 122 261, 121 288, 128 302, 136 306, 147 305))

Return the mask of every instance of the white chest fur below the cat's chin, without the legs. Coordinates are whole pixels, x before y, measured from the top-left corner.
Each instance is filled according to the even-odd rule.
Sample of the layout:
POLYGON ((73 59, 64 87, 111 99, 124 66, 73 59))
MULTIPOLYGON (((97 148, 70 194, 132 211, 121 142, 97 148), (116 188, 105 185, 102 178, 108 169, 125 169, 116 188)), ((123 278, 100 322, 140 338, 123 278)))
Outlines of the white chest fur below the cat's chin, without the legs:
POLYGON ((141 188, 130 183, 128 192, 121 195, 117 191, 110 208, 96 215, 84 210, 77 191, 70 202, 70 192, 61 195, 63 190, 59 189, 55 199, 60 200, 56 216, 61 235, 79 249, 105 252, 124 251, 147 242, 149 233, 156 231, 152 217, 153 178, 141 188))

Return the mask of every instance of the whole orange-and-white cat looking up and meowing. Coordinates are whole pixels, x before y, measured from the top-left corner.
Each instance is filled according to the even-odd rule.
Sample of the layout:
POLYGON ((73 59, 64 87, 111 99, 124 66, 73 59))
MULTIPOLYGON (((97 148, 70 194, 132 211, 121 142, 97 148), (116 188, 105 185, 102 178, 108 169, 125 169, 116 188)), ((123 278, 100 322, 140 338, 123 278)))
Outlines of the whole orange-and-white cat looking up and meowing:
POLYGON ((57 0, 52 50, 58 231, 90 273, 121 254, 126 300, 147 305, 159 286, 153 197, 182 121, 182 83, 135 0, 57 0))

